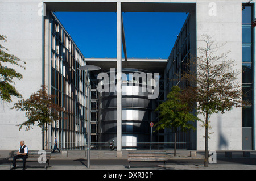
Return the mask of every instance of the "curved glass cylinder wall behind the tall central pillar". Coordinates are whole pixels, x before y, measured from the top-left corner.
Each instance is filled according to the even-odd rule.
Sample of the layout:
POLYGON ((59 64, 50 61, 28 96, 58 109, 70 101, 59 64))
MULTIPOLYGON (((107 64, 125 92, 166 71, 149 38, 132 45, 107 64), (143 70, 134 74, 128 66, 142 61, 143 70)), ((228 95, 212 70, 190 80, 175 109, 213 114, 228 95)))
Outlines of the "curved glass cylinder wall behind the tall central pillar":
MULTIPOLYGON (((106 71, 106 73, 110 77, 111 72, 106 71)), ((129 73, 142 75, 141 73, 148 72, 139 69, 123 69, 122 73, 122 148, 147 148, 150 146, 148 144, 150 143, 150 122, 155 120, 155 99, 148 99, 150 91, 143 91, 144 85, 151 83, 144 81, 143 78, 135 80, 129 73)), ((110 86, 115 85, 116 82, 110 79, 109 92, 99 93, 98 96, 99 142, 116 141, 117 96, 116 92, 110 92, 110 86)))

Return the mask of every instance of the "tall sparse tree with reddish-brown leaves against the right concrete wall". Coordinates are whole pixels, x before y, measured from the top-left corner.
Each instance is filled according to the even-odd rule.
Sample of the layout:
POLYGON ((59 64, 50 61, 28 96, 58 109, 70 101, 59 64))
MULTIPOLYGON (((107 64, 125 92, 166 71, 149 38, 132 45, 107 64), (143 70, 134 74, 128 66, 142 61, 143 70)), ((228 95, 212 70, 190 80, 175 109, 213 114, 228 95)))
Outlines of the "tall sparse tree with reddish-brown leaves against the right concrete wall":
POLYGON ((208 166, 208 130, 209 117, 213 113, 225 113, 233 107, 241 107, 242 90, 238 83, 233 60, 228 60, 229 52, 216 55, 222 45, 216 44, 208 35, 203 35, 202 42, 205 47, 199 48, 200 56, 196 60, 191 60, 191 70, 193 72, 184 73, 183 78, 191 82, 192 86, 187 87, 183 92, 185 97, 193 98, 197 103, 197 113, 205 118, 203 127, 205 128, 205 159, 204 166, 208 166))

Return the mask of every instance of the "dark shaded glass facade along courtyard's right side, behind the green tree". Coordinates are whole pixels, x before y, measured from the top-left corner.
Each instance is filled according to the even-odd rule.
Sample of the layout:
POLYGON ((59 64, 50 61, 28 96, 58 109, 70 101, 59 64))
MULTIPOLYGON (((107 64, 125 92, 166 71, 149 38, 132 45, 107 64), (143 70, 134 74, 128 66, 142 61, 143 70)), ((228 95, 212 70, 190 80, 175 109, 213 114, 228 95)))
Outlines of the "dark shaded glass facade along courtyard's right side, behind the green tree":
MULTIPOLYGON (((187 86, 186 82, 177 81, 181 78, 184 72, 188 72, 188 65, 190 61, 191 53, 191 15, 188 15, 187 20, 184 23, 183 28, 177 37, 176 43, 172 48, 170 56, 167 61, 167 66, 164 71, 164 98, 167 97, 171 87, 179 85, 180 87, 187 86)), ((165 142, 174 142, 174 133, 170 129, 164 130, 165 142)), ((179 149, 191 149, 191 131, 188 133, 178 131, 177 142, 183 144, 177 144, 179 149)), ((170 146, 174 146, 171 144, 170 146)))

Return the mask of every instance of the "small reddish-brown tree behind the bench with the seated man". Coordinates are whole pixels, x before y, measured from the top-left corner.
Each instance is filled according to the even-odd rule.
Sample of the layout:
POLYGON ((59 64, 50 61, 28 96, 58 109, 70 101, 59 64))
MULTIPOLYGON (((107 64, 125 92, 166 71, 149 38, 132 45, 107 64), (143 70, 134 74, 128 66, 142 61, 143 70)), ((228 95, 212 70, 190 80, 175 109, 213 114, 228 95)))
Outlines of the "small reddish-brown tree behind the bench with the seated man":
POLYGON ((46 132, 47 140, 47 125, 50 125, 54 121, 64 119, 60 116, 60 112, 67 112, 54 103, 55 95, 47 94, 47 87, 42 85, 42 88, 39 89, 36 93, 33 93, 30 98, 24 100, 19 100, 18 103, 14 104, 12 109, 26 111, 25 116, 27 121, 22 124, 19 124, 19 131, 23 126, 26 127, 26 131, 30 130, 32 126, 37 123, 37 126, 42 128, 42 131, 46 132), (45 128, 44 128, 45 126, 45 128))

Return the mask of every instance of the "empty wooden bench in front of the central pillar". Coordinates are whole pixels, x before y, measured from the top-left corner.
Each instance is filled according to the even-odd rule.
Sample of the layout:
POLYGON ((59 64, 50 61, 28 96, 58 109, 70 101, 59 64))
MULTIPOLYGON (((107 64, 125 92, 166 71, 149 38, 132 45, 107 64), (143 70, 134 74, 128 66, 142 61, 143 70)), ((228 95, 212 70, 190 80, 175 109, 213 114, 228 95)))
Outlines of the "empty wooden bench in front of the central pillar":
POLYGON ((151 161, 163 161, 164 167, 167 161, 166 151, 159 150, 147 150, 147 151, 129 151, 128 152, 129 169, 131 162, 151 162, 151 161))

